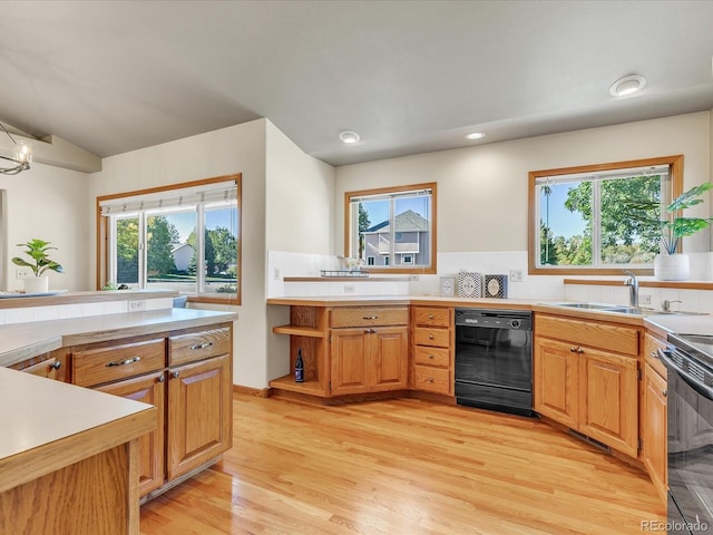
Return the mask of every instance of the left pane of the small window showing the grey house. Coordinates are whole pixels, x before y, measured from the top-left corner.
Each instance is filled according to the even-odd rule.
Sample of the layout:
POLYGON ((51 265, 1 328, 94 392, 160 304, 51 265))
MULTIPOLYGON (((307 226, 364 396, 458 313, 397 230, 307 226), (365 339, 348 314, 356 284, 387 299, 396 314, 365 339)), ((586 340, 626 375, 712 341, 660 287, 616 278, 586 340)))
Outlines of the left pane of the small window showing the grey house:
MULTIPOLYGON (((356 210, 359 228, 358 237, 353 240, 351 256, 355 259, 374 257, 369 265, 389 265, 391 254, 391 236, 389 230, 390 201, 365 201, 353 203, 356 210)), ((352 218, 352 221, 354 221, 352 218)))

